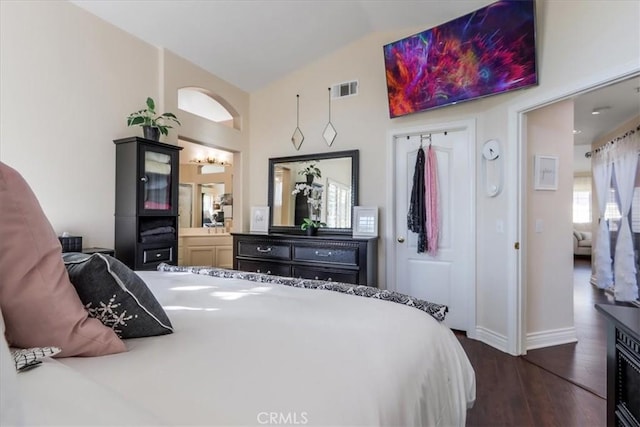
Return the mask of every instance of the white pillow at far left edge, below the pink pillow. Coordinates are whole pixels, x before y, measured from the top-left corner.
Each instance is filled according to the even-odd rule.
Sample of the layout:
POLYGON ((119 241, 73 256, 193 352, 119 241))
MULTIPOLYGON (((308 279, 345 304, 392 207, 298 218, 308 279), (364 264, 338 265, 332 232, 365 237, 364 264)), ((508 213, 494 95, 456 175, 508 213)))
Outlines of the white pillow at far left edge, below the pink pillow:
POLYGON ((4 319, 0 311, 0 425, 23 425, 22 402, 13 356, 4 337, 4 319))

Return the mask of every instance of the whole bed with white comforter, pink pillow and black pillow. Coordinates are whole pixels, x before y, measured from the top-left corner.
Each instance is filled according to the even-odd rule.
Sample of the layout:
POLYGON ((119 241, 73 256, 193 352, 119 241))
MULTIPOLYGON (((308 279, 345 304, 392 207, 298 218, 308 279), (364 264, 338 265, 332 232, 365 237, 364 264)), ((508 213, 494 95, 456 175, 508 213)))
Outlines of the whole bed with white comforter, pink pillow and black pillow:
POLYGON ((0 163, 0 424, 465 424, 475 375, 434 305, 222 269, 132 272, 103 254, 63 263, 35 197, 16 202, 25 186, 0 163), (117 322, 88 316, 99 304, 87 303, 79 285, 76 268, 87 260, 115 278, 113 288, 99 282, 92 292, 122 292, 133 301, 129 313, 143 308, 128 319, 152 319, 159 335, 126 335, 117 322), (66 319, 78 307, 80 317, 66 319), (23 372, 7 368, 7 343, 26 348, 36 338, 61 342, 62 352, 23 372))

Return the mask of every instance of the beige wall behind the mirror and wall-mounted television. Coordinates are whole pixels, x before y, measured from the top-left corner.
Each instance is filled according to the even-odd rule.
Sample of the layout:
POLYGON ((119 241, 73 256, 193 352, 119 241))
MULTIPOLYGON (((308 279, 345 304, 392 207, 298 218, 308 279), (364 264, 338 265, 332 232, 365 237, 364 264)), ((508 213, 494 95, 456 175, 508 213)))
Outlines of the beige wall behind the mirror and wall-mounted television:
MULTIPOLYGON (((510 140, 513 132, 513 108, 527 105, 529 100, 559 98, 566 95, 570 86, 580 81, 590 81, 593 75, 616 75, 619 69, 637 69, 640 64, 640 37, 637 32, 639 2, 565 2, 538 1, 538 69, 540 85, 510 94, 463 103, 452 107, 413 114, 390 120, 387 111, 382 46, 414 33, 419 29, 407 29, 392 33, 371 34, 315 63, 298 69, 286 78, 274 82, 251 94, 251 180, 250 205, 267 203, 267 159, 333 150, 360 150, 360 204, 380 208, 382 236, 379 249, 379 277, 385 286, 385 255, 387 242, 394 238, 385 235, 389 220, 386 206, 386 182, 392 179, 386 171, 389 154, 388 135, 391 131, 458 120, 476 120, 476 152, 488 139, 498 139, 505 150, 505 159, 517 149, 516 140, 510 140), (615 26, 610 25, 616 22, 615 26), (632 29, 632 30, 629 30, 632 29), (636 29, 636 30, 633 30, 636 29), (624 40, 621 43, 620 40, 624 40), (631 65, 629 65, 631 64, 631 65), (327 87, 332 84, 358 79, 360 94, 332 103, 331 118, 338 132, 336 141, 328 148, 322 139, 327 122, 327 87), (300 128, 305 141, 300 151, 295 151, 290 138, 296 126, 296 94, 300 94, 300 128)), ((617 76, 617 75, 616 75, 617 76)), ((593 84, 593 83, 591 83, 593 84)), ((542 102, 542 101, 541 101, 542 102)), ((571 162, 560 159, 561 164, 571 162)), ((476 170, 481 173, 480 156, 476 170)), ((506 164, 507 170, 512 165, 506 164)), ((563 173, 570 173, 564 169, 563 173)), ((510 259, 514 242, 509 231, 517 227, 509 218, 515 206, 510 200, 517 192, 515 181, 505 182, 503 192, 495 197, 483 195, 481 176, 476 177, 476 317, 478 329, 493 337, 493 344, 504 348, 510 328, 507 295, 517 292, 511 280, 510 259), (497 232, 496 222, 506 221, 507 233, 497 232)), ((570 236, 570 235, 568 235, 570 236)), ((570 241, 568 241, 570 243, 570 241)), ((523 242, 526 245, 527 242, 523 242)), ((524 248, 529 249, 529 248, 524 248)), ((535 248, 534 254, 535 254, 535 248)), ((569 250, 569 254, 570 254, 569 250)), ((571 260, 567 261, 570 265, 571 260)), ((547 267, 544 267, 545 269, 547 267)), ((524 284, 526 291, 528 284, 524 284)), ((565 319, 555 324, 536 323, 535 328, 553 331, 566 326, 565 319)), ((536 329, 539 330, 539 329, 536 329)))

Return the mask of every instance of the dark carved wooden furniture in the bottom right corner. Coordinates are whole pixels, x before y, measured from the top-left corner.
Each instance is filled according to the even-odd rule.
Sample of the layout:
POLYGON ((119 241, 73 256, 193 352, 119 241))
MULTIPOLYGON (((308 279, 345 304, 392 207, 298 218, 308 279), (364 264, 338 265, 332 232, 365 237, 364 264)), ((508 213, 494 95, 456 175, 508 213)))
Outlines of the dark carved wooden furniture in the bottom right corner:
POLYGON ((596 304, 607 328, 607 425, 640 427, 640 308, 596 304))

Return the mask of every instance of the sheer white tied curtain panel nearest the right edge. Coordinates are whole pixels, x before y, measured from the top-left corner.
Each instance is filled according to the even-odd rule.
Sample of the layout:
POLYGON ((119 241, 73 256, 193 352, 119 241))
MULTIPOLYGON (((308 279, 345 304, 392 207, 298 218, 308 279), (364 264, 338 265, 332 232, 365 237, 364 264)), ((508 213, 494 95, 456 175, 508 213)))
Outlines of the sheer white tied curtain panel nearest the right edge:
POLYGON ((616 142, 611 158, 616 173, 617 191, 620 197, 620 229, 616 243, 614 262, 615 299, 635 301, 638 298, 633 236, 629 226, 629 210, 636 181, 640 138, 638 132, 616 142))

